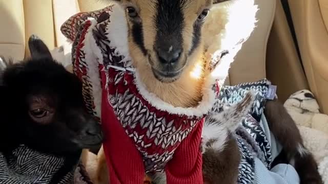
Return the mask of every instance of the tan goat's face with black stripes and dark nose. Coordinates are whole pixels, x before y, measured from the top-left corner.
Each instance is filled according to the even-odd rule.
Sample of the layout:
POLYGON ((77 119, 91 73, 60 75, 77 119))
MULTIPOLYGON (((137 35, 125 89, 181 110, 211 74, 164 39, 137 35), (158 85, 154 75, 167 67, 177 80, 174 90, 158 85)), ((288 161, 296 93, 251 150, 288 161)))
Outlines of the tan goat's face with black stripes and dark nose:
POLYGON ((121 0, 129 25, 130 54, 142 71, 162 82, 174 82, 206 48, 202 26, 212 0, 121 0))

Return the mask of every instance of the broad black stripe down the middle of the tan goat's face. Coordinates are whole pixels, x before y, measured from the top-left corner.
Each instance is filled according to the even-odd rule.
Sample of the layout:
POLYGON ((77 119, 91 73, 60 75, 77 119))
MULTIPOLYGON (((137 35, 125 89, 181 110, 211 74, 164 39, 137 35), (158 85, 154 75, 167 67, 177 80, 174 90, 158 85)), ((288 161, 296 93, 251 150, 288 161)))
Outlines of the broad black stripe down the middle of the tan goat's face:
POLYGON ((155 48, 174 50, 182 48, 182 30, 184 18, 182 14, 183 0, 158 0, 156 16, 155 48))

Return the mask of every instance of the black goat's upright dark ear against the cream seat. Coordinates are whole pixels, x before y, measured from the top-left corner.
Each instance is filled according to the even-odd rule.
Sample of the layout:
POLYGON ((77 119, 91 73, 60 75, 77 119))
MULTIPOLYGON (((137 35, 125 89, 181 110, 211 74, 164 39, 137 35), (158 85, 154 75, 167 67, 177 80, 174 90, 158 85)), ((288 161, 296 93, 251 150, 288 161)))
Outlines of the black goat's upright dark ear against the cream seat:
POLYGON ((29 38, 29 48, 32 58, 46 57, 52 59, 51 53, 47 45, 36 35, 29 38))

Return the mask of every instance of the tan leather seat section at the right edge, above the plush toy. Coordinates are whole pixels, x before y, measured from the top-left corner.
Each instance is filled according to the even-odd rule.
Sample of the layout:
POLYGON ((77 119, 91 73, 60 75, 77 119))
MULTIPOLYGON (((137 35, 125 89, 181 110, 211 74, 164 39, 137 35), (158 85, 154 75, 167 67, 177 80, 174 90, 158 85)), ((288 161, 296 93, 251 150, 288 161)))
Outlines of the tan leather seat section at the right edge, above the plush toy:
POLYGON ((328 113, 328 1, 288 0, 310 88, 328 113))

